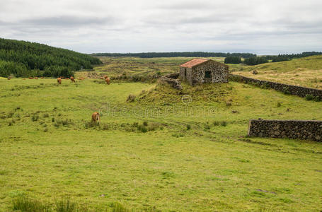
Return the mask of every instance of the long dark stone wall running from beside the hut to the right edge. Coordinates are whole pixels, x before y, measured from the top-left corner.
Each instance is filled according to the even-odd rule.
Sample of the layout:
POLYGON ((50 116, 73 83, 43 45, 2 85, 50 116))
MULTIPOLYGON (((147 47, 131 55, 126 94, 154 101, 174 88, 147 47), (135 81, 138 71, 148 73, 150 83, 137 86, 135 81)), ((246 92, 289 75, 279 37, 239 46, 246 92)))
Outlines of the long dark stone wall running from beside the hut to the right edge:
POLYGON ((315 100, 322 100, 322 90, 315 88, 306 88, 301 86, 292 86, 283 83, 275 83, 271 81, 262 81, 255 78, 249 78, 246 76, 229 74, 229 79, 231 81, 238 81, 243 83, 253 83, 258 86, 263 86, 264 88, 272 88, 274 90, 282 91, 286 94, 298 95, 299 97, 306 97, 307 95, 311 95, 311 98, 315 100))

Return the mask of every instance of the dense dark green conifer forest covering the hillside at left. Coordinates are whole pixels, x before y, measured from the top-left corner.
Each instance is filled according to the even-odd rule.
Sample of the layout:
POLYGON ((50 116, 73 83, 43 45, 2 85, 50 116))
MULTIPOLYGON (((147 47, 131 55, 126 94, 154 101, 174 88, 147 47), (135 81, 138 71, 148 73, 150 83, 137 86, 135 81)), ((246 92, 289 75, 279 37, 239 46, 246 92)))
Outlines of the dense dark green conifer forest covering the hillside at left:
POLYGON ((93 69, 100 59, 88 54, 35 42, 0 38, 0 76, 71 76, 73 71, 93 69))

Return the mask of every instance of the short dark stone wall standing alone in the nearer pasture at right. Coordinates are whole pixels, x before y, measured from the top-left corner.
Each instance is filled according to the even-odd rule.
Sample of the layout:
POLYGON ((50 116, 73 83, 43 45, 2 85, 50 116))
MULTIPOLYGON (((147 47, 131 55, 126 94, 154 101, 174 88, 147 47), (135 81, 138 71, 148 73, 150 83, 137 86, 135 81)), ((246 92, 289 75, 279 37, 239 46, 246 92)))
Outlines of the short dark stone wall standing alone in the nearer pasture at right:
POLYGON ((322 141, 322 121, 250 120, 248 136, 322 141))

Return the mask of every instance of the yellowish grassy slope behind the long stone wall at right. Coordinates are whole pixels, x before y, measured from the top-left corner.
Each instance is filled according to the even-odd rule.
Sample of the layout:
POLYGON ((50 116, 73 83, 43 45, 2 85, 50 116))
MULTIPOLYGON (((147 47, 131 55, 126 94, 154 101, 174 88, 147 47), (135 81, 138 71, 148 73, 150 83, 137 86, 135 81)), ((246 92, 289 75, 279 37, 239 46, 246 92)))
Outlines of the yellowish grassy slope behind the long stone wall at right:
POLYGON ((251 78, 322 89, 321 55, 256 66, 235 65, 229 68, 234 73, 251 78), (258 71, 258 74, 253 74, 253 71, 258 71))

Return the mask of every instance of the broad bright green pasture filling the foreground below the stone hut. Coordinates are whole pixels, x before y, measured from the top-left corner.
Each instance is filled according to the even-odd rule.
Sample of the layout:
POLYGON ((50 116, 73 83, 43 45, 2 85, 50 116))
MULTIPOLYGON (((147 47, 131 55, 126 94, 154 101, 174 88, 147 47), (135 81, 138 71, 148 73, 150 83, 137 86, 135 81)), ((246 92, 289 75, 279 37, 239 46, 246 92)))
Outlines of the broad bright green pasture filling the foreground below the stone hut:
MULTIPOLYGON (((154 61, 171 72, 188 59, 138 60, 138 70, 154 61)), ((101 72, 109 70, 121 71, 101 72)), ((115 202, 137 211, 321 211, 322 143, 246 134, 259 117, 322 119, 322 102, 235 82, 177 91, 13 78, 0 79, 0 95, 0 211, 21 195, 52 207, 69 197, 88 211, 115 202)))

